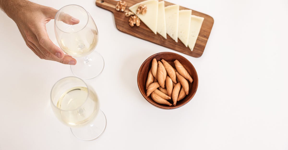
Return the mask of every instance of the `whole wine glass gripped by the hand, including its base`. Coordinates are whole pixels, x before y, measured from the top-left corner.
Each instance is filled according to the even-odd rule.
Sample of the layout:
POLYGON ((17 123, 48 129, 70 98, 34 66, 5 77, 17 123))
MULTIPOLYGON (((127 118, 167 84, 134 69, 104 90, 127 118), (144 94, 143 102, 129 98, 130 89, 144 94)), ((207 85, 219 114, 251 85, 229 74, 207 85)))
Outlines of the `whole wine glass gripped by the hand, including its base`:
POLYGON ((79 5, 67 5, 58 10, 54 20, 54 30, 60 48, 73 57, 77 64, 71 70, 82 79, 98 76, 104 68, 103 57, 94 51, 99 35, 91 15, 79 5), (67 16, 78 19, 78 24, 66 24, 67 16), (94 52, 93 52, 94 51, 94 52))

